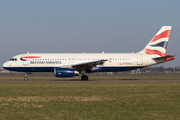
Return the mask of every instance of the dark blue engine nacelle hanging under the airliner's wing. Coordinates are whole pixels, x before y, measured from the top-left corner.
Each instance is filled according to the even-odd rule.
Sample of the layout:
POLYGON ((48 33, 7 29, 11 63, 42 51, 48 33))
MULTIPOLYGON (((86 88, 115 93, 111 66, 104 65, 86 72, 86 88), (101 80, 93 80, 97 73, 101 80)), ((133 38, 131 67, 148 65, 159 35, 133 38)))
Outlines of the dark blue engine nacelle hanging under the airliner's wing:
POLYGON ((54 75, 56 77, 73 77, 78 76, 79 73, 70 68, 54 68, 54 75))

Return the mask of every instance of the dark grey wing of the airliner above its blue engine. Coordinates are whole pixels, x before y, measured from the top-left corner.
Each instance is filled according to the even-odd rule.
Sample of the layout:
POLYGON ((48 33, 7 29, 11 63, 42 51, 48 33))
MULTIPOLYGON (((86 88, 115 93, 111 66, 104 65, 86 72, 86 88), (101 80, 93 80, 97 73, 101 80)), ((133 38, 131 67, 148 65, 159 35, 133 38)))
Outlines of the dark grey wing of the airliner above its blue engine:
POLYGON ((92 67, 96 67, 97 65, 103 65, 105 61, 108 61, 108 60, 97 60, 97 61, 92 61, 92 62, 75 64, 75 65, 72 65, 72 68, 75 70, 86 70, 86 69, 91 70, 92 67))

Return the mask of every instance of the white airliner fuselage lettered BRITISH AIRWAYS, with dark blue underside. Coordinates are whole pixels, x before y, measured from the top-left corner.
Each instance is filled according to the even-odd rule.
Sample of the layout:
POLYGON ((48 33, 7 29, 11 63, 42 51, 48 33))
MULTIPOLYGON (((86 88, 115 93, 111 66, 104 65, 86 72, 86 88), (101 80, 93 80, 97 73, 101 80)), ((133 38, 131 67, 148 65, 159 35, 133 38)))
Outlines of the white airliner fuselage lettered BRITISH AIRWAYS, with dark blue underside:
POLYGON ((156 64, 152 55, 143 53, 31 53, 16 55, 13 59, 4 63, 3 67, 23 72, 53 72, 57 67, 71 68, 80 63, 107 60, 103 65, 97 65, 97 68, 123 71, 156 64))

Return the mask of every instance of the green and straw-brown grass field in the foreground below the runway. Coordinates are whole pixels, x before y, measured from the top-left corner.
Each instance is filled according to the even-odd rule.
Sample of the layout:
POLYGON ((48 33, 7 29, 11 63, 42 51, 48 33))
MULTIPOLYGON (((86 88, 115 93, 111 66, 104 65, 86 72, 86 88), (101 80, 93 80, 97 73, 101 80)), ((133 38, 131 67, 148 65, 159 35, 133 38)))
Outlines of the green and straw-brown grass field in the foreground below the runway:
POLYGON ((178 81, 0 82, 0 119, 178 120, 179 91, 178 81))

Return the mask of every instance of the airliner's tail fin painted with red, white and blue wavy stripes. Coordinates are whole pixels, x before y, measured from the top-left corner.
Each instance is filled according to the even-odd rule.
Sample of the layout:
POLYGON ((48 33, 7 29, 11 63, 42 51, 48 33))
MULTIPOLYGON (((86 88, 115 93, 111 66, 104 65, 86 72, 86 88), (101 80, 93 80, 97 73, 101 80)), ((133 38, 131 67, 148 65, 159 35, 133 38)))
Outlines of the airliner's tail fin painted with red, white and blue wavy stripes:
POLYGON ((140 52, 149 55, 166 56, 166 48, 172 26, 163 26, 151 39, 147 46, 140 52))

